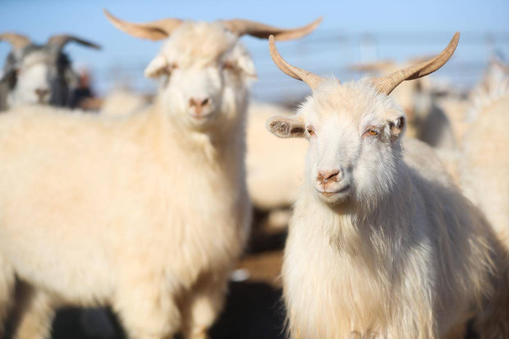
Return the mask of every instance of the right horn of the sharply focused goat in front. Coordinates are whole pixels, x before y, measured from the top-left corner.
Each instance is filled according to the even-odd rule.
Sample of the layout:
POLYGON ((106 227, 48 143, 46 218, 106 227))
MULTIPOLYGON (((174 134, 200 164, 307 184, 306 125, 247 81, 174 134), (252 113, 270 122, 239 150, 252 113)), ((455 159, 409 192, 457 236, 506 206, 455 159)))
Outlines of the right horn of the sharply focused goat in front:
POLYGON ((422 78, 423 76, 427 76, 428 74, 440 69, 440 67, 445 65, 445 63, 450 59, 452 53, 455 52, 459 40, 460 32, 456 32, 447 47, 445 47, 442 53, 438 54, 437 57, 434 57, 429 61, 422 62, 421 64, 390 73, 388 76, 372 78, 371 83, 373 83, 375 88, 377 88, 378 92, 389 95, 392 90, 394 90, 394 88, 403 81, 422 78))

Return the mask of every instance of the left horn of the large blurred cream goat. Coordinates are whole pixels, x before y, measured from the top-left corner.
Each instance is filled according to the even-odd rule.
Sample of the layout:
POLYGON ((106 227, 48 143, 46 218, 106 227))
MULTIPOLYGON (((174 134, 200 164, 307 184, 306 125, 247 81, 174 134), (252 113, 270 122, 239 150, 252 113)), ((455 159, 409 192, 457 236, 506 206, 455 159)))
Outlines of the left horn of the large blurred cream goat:
POLYGON ((162 40, 171 35, 183 20, 167 18, 163 20, 152 21, 151 23, 129 23, 112 16, 106 9, 103 10, 110 23, 122 32, 133 37, 150 40, 162 40))

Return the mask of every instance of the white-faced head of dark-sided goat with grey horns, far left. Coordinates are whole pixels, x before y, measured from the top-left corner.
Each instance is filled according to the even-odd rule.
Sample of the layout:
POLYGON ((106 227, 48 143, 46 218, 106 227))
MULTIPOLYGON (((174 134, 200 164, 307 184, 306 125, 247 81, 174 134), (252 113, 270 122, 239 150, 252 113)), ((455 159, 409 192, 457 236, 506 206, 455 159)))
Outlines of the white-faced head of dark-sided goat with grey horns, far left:
POLYGON ((13 47, 0 80, 0 111, 28 104, 71 105, 78 76, 62 49, 68 42, 100 49, 71 35, 53 35, 45 44, 34 44, 16 33, 4 33, 0 40, 13 47))

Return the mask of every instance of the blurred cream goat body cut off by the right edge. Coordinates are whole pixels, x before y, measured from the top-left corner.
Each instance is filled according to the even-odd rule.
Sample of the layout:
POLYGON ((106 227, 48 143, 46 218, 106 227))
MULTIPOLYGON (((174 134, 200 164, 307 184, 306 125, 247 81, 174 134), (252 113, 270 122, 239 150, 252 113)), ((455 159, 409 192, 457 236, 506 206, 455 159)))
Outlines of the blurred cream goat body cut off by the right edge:
POLYGON ((492 63, 472 96, 473 119, 459 166, 462 189, 509 249, 509 68, 492 63))

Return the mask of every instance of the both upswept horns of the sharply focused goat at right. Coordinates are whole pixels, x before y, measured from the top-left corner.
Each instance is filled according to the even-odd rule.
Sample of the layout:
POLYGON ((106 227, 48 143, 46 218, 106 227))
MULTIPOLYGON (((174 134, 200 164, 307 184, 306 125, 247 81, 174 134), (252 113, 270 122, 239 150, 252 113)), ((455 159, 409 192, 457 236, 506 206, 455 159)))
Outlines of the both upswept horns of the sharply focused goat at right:
MULTIPOLYGON (((402 69, 400 71, 396 71, 394 73, 390 73, 387 76, 382 76, 379 78, 371 78, 371 83, 378 90, 379 93, 384 93, 389 95, 394 88, 397 87, 400 83, 406 80, 414 80, 417 78, 421 78, 423 76, 427 76, 434 71, 437 71, 445 65, 445 63, 452 57, 452 54, 455 52, 458 41, 460 40, 460 32, 456 32, 452 37, 452 40, 449 42, 447 47, 438 54, 437 57, 425 62, 421 62, 415 66, 408 67, 406 69, 402 69)), ((318 87, 324 78, 321 76, 317 76, 311 72, 305 71, 303 69, 299 69, 295 66, 291 66, 288 64, 279 52, 276 49, 276 44, 274 42, 274 37, 269 38, 269 47, 271 52, 271 57, 274 60, 276 66, 286 73, 288 76, 292 78, 296 78, 298 80, 304 81, 307 83, 312 90, 318 87)))

